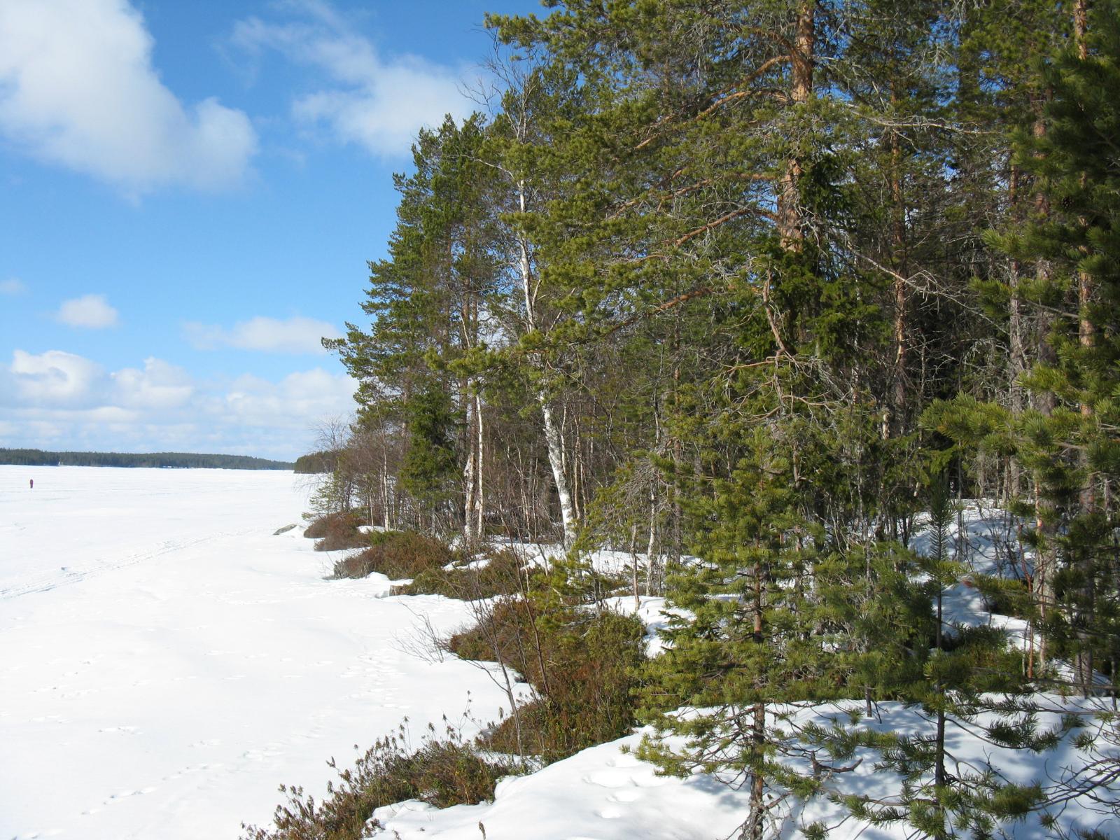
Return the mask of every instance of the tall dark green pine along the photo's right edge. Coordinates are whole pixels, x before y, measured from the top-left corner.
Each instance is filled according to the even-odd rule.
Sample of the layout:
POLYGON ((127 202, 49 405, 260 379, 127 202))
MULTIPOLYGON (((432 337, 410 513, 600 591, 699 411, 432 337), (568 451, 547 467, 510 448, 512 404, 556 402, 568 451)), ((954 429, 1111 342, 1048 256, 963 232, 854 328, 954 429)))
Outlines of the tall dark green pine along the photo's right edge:
MULTIPOLYGON (((1080 8, 1080 7, 1079 7, 1080 8)), ((1075 664, 1086 696, 1094 671, 1117 656, 1114 514, 1102 504, 1120 465, 1120 8, 1094 3, 1088 32, 1045 68, 1053 91, 1043 138, 1021 136, 1019 159, 1035 172, 1052 208, 1014 242, 1018 255, 1052 271, 1034 300, 1060 309, 1047 342, 1054 363, 1027 379, 1052 394, 1054 411, 1023 418, 1021 458, 1039 474, 1056 520, 1060 557, 1055 607, 1044 632, 1056 655, 1075 664)))

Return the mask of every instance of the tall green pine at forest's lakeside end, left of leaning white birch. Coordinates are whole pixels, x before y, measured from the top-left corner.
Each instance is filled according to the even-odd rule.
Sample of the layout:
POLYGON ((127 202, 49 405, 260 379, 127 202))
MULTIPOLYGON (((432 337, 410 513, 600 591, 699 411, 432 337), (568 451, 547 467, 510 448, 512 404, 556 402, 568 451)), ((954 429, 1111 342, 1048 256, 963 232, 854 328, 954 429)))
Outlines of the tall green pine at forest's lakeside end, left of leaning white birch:
POLYGON ((347 324, 346 338, 326 343, 360 382, 360 420, 408 427, 400 486, 420 494, 429 522, 458 521, 468 538, 485 519, 484 383, 473 356, 505 295, 483 141, 477 116, 420 132, 416 171, 395 177, 401 202, 390 256, 370 265, 370 328, 347 324), (448 470, 460 476, 458 486, 448 470), (454 516, 448 505, 457 501, 461 514, 454 516))

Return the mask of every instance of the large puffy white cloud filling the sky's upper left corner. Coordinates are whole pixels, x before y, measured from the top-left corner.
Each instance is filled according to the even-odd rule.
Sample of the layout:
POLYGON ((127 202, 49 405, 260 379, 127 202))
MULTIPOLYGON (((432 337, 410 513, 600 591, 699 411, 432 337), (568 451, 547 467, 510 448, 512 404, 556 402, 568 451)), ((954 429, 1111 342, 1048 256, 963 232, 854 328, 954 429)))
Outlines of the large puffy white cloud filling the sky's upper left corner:
POLYGON ((152 45, 128 0, 3 0, 0 134, 133 195, 236 184, 256 150, 249 118, 213 97, 180 102, 152 45))

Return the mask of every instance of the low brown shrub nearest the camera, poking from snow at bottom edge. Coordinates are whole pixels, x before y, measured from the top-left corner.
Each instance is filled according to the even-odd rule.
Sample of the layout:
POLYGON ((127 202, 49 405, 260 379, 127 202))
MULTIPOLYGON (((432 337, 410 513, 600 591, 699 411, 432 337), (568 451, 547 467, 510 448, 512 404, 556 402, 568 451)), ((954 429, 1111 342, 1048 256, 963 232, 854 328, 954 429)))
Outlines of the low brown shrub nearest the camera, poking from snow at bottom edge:
MULTIPOLYGON (((334 759, 328 764, 337 771, 334 759)), ((323 802, 306 795, 302 787, 281 785, 288 802, 277 806, 272 829, 242 825, 242 840, 373 837, 381 828, 370 819, 377 808, 412 799, 436 808, 477 804, 494 797, 500 778, 524 771, 520 763, 483 754, 451 728, 441 740, 432 729, 412 750, 402 727, 398 735, 374 744, 352 769, 338 771, 338 782, 327 785, 323 802)))

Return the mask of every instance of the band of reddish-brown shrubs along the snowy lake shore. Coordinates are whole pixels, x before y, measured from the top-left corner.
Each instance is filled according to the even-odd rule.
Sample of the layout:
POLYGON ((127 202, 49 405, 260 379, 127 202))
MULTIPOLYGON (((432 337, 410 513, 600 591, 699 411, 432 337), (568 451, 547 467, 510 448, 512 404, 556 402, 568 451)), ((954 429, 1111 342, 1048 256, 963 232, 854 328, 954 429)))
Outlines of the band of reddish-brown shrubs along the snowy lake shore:
MULTIPOLYGON (((333 520, 324 524, 324 533, 332 528, 340 531, 348 524, 333 520)), ((641 620, 560 587, 549 571, 511 549, 455 551, 414 532, 363 538, 365 550, 336 562, 334 577, 380 572, 410 579, 394 587, 394 594, 466 601, 474 619, 469 627, 448 638, 429 625, 430 636, 418 647, 500 663, 501 678, 492 665, 483 666, 507 692, 513 711, 473 741, 452 727, 441 737, 429 727, 416 749, 402 725, 351 768, 338 769, 332 759, 337 780, 321 801, 302 787, 281 785, 286 801, 277 806, 272 827, 244 825, 242 840, 373 837, 382 828, 373 815, 383 805, 421 800, 447 808, 491 800, 502 776, 530 772, 631 731, 633 691, 644 660, 641 620), (531 688, 528 701, 517 699, 523 687, 514 688, 522 681, 531 688)), ((605 589, 606 579, 594 587, 605 589)))

